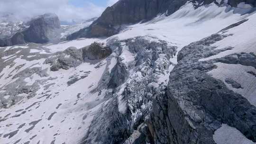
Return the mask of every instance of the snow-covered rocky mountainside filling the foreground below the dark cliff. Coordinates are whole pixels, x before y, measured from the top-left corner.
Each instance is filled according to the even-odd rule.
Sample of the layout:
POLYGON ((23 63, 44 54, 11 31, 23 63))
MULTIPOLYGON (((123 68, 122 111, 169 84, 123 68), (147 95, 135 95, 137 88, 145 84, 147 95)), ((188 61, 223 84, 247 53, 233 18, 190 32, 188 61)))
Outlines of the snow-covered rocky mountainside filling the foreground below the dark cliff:
POLYGON ((111 36, 1 47, 1 144, 255 144, 254 1, 203 1, 111 36))

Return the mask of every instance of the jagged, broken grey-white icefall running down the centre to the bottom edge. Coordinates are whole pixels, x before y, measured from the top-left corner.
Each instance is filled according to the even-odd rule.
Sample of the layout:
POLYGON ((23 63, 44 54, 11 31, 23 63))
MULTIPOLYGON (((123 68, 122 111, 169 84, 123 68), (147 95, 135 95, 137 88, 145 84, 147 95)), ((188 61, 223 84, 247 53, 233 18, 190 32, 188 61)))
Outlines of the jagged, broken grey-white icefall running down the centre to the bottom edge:
POLYGON ((176 47, 144 37, 116 43, 118 62, 110 77, 104 78, 106 86, 114 91, 105 95, 110 102, 95 116, 82 144, 154 144, 145 119, 153 96, 165 89, 167 82, 158 84, 158 78, 172 67, 169 59, 176 47), (128 58, 127 53, 134 58, 128 58))

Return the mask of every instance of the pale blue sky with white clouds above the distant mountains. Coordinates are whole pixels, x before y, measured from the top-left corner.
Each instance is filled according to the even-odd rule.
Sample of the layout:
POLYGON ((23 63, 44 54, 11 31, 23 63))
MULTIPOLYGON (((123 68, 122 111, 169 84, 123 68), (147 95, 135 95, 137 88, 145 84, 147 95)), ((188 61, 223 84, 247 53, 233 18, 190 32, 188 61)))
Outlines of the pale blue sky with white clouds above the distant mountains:
POLYGON ((0 11, 12 13, 20 20, 51 12, 57 14, 61 21, 71 22, 98 17, 104 9, 90 2, 75 7, 69 0, 0 0, 0 11))

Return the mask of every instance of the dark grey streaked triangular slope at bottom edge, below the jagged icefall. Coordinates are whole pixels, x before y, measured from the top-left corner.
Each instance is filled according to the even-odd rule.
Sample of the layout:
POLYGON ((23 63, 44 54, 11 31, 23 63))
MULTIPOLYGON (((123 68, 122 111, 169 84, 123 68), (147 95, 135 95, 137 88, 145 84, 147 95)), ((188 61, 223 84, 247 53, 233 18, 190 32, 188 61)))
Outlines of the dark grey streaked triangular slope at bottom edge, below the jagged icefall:
POLYGON ((81 144, 121 144, 128 138, 129 124, 125 115, 117 110, 117 99, 111 99, 105 108, 95 115, 97 118, 92 121, 81 144))

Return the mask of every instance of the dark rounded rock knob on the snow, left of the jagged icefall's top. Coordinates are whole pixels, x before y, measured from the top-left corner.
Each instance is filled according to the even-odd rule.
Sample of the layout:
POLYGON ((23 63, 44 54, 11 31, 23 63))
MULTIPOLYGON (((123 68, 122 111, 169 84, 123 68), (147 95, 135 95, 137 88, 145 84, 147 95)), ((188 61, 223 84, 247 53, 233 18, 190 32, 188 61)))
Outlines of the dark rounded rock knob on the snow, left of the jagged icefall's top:
POLYGON ((88 47, 82 48, 83 59, 100 60, 109 56, 112 50, 109 47, 104 47, 99 43, 93 43, 88 47))

